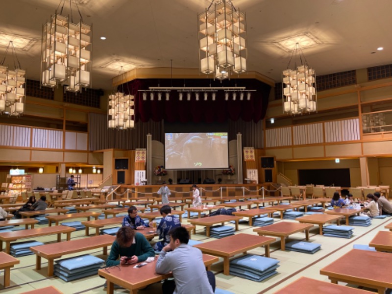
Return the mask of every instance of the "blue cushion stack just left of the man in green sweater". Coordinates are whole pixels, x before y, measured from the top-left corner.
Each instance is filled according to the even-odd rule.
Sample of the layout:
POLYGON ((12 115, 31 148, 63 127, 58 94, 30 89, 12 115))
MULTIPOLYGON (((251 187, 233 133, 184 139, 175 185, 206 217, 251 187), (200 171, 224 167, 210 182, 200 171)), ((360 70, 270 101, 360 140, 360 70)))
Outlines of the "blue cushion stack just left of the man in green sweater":
POLYGON ((105 261, 92 255, 80 255, 56 261, 54 275, 69 282, 83 277, 96 275, 105 261))

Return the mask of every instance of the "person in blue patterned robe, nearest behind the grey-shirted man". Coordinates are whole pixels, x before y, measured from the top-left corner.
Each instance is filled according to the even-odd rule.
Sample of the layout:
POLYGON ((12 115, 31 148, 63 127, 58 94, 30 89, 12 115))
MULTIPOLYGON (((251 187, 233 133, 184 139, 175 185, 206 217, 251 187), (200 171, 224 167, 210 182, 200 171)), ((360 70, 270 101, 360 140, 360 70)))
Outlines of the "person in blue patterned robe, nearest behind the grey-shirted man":
MULTIPOLYGON (((163 219, 156 228, 156 234, 159 235, 159 239, 161 241, 158 241, 154 245, 155 251, 161 251, 163 247, 170 243, 169 231, 172 228, 181 226, 181 222, 178 217, 172 216, 172 208, 169 205, 162 206, 160 213, 163 219)), ((152 221, 150 222, 150 226, 151 223, 152 221)))

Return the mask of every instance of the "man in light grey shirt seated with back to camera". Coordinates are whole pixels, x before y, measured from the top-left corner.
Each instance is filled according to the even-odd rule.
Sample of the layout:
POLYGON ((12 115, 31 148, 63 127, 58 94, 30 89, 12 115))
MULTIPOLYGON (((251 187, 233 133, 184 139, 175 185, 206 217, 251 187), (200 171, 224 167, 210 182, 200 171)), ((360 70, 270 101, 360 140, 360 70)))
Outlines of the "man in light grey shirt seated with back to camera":
POLYGON ((170 243, 163 247, 155 265, 157 273, 172 271, 174 281, 162 284, 163 294, 212 294, 215 275, 206 271, 200 249, 188 245, 189 233, 184 227, 169 232, 170 243))

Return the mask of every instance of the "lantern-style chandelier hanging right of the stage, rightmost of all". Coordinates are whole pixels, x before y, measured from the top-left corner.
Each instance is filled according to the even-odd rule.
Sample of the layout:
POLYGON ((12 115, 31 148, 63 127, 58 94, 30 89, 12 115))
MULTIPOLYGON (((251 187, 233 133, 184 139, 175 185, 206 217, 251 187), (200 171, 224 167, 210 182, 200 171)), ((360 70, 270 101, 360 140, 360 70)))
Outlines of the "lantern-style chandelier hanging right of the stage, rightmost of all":
POLYGON ((282 73, 282 79, 284 113, 296 115, 317 111, 316 72, 308 66, 298 43, 295 44, 287 69, 282 73), (290 69, 293 57, 294 68, 290 69), (298 66, 297 58, 300 61, 298 66))

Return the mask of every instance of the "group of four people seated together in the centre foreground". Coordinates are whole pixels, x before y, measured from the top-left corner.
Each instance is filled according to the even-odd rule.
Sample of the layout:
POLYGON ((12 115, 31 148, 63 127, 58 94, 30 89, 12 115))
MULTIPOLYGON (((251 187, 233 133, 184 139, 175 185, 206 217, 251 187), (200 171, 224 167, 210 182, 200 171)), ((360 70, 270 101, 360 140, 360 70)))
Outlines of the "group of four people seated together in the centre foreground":
POLYGON ((188 245, 189 233, 181 226, 179 219, 172 216, 172 209, 164 205, 160 209, 163 219, 156 233, 161 241, 152 247, 146 237, 137 232, 138 229, 153 227, 152 221, 146 224, 137 215, 137 208, 128 208, 128 215, 123 219, 123 226, 116 234, 116 240, 110 250, 106 266, 127 266, 159 257, 155 270, 164 274, 172 271, 174 280, 166 280, 162 284, 164 294, 204 294, 215 292, 215 276, 205 269, 202 253, 196 247, 188 245))

